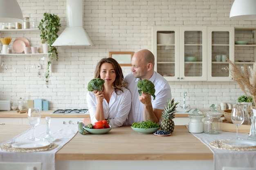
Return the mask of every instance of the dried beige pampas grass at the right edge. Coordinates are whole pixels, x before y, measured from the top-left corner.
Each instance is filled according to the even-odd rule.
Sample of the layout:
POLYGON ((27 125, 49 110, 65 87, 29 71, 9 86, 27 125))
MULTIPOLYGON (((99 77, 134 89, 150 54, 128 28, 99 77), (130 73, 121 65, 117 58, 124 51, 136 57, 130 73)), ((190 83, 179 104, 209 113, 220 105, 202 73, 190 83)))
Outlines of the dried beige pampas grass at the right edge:
MULTIPOLYGON (((244 72, 240 70, 235 63, 227 59, 230 64, 230 68, 228 68, 230 75, 233 77, 234 81, 238 83, 240 88, 243 90, 247 98, 252 96, 252 103, 256 104, 256 62, 253 65, 253 68, 248 70, 247 65, 244 64, 245 70, 244 72)), ((252 109, 256 109, 255 105, 251 105, 252 109)))

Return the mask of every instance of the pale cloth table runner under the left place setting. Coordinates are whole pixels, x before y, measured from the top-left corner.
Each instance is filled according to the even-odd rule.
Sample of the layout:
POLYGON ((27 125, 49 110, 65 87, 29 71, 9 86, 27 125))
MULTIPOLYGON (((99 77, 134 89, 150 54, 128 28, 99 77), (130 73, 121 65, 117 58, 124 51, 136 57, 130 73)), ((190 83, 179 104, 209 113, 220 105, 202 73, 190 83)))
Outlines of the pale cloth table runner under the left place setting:
MULTIPOLYGON (((54 137, 54 143, 58 146, 52 150, 43 152, 7 152, 0 150, 0 161, 5 162, 42 162, 42 170, 55 170, 55 153, 61 149, 67 142, 76 135, 78 131, 77 124, 70 125, 51 125, 51 135, 54 137)), ((14 137, 15 142, 27 142, 32 137, 33 128, 14 137)), ((36 137, 43 139, 46 135, 46 125, 36 126, 36 137)), ((11 143, 11 140, 2 143, 11 143)))

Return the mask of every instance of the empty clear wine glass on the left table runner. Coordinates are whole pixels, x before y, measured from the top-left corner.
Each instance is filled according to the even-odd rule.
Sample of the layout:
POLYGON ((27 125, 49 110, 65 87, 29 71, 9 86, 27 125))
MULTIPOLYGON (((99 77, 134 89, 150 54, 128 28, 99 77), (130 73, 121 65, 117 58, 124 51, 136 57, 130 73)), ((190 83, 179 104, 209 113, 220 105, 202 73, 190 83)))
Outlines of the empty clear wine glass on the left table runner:
POLYGON ((29 124, 31 124, 34 128, 33 137, 29 140, 32 140, 32 141, 40 140, 35 137, 36 136, 35 128, 39 124, 40 118, 41 118, 41 116, 40 116, 39 108, 29 108, 28 109, 27 119, 29 121, 29 124))

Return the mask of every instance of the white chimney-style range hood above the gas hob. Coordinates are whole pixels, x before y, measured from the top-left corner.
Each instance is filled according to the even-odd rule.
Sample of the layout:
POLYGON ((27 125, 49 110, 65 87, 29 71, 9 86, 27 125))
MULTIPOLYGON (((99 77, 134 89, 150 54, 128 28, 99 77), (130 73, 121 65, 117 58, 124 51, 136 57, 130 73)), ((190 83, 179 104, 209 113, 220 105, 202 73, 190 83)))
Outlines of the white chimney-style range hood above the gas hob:
POLYGON ((67 0, 67 28, 52 46, 93 46, 83 28, 84 0, 67 0))

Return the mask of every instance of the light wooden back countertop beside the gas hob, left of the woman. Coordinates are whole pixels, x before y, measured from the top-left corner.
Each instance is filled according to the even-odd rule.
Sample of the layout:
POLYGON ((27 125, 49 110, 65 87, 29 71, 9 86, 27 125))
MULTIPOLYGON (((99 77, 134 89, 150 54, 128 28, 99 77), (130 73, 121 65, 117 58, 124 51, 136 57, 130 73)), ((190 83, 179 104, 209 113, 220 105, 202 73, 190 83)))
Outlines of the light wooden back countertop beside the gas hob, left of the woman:
MULTIPOLYGON (((51 118, 90 118, 89 114, 51 114, 54 110, 40 111, 41 118, 51 116, 51 118)), ((27 118, 27 113, 17 111, 0 111, 0 118, 27 118)))

